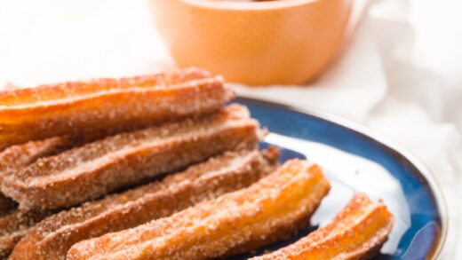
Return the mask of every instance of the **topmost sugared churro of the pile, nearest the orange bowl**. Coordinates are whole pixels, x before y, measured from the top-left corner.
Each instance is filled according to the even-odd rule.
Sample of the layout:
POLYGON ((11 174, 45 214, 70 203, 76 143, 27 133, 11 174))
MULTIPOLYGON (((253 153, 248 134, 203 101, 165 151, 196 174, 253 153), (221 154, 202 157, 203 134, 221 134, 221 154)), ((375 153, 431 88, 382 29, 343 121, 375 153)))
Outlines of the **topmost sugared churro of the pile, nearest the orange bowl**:
POLYGON ((0 91, 0 147, 209 114, 234 93, 201 69, 0 91))

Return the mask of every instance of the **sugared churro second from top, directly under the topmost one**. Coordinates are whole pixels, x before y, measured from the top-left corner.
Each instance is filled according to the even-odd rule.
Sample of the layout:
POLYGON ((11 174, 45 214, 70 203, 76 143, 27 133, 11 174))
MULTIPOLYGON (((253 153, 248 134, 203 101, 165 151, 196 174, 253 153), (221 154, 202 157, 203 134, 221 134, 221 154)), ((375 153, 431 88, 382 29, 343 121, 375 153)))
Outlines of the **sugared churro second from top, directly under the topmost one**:
POLYGON ((203 161, 227 150, 253 148, 259 123, 243 106, 104 138, 42 158, 4 177, 2 192, 20 209, 57 209, 203 161))

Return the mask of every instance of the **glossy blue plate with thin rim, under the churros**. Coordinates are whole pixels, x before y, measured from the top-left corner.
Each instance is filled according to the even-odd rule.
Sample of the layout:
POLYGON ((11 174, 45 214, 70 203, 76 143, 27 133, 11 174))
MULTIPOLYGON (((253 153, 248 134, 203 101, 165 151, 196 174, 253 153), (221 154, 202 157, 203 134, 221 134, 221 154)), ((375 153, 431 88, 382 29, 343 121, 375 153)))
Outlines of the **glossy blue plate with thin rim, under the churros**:
POLYGON ((271 132, 262 146, 282 148, 282 162, 293 157, 313 160, 323 167, 332 185, 311 219, 311 229, 264 250, 283 247, 325 225, 354 193, 363 192, 373 200, 385 201, 395 217, 393 231, 377 259, 438 256, 447 230, 442 193, 429 171, 410 154, 331 115, 251 98, 236 101, 248 106, 252 117, 271 132))

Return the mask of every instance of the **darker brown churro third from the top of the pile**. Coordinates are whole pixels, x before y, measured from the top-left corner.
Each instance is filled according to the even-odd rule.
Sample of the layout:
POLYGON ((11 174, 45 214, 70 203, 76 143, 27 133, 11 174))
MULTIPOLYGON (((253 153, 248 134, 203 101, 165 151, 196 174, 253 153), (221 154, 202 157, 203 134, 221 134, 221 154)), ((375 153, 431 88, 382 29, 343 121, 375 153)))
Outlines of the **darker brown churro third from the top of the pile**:
POLYGON ((275 148, 227 152, 163 181, 48 217, 20 241, 10 259, 65 259, 80 240, 142 225, 251 185, 275 170, 277 155, 275 148))

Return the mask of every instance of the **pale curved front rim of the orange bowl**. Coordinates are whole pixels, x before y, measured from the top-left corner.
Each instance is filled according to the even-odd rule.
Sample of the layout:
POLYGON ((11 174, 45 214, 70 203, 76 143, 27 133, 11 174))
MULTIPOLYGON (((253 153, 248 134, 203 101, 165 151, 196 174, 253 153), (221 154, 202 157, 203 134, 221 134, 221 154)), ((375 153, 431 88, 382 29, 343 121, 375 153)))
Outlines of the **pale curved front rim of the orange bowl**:
POLYGON ((315 4, 323 0, 277 0, 263 2, 244 2, 229 0, 179 0, 183 4, 215 10, 261 11, 296 7, 303 4, 315 4))

